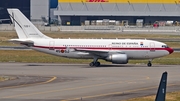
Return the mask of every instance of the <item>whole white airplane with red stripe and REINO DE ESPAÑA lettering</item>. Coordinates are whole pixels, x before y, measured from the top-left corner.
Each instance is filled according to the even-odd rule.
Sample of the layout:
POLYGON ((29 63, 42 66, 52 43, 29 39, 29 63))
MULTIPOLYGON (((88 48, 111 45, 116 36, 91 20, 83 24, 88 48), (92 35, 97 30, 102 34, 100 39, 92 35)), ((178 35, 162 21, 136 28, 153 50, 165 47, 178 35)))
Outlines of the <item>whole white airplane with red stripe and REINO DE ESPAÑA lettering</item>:
POLYGON ((130 59, 152 59, 173 53, 165 43, 146 39, 53 39, 41 33, 19 9, 7 9, 19 39, 10 42, 25 45, 51 55, 93 59, 89 66, 98 67, 98 59, 127 64, 130 59))

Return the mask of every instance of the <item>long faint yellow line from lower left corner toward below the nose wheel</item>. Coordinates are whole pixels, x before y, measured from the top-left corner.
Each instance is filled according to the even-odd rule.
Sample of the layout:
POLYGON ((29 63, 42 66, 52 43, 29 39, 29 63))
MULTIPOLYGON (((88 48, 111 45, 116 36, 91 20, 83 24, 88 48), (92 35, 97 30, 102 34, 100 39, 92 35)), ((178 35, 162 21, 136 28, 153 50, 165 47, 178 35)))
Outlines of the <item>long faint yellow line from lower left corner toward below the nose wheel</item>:
POLYGON ((98 86, 106 86, 106 85, 113 85, 113 84, 121 84, 121 83, 128 83, 128 82, 135 82, 135 81, 144 81, 148 79, 139 79, 139 80, 132 80, 132 81, 118 81, 118 82, 110 82, 110 83, 104 83, 104 84, 96 84, 96 85, 88 85, 88 86, 81 86, 81 87, 74 87, 74 88, 66 88, 61 90, 51 90, 51 91, 43 91, 43 92, 35 92, 35 93, 29 93, 29 94, 19 94, 19 95, 13 95, 13 96, 5 96, 2 98, 17 98, 17 97, 23 97, 23 96, 32 96, 32 95, 40 95, 40 94, 47 94, 47 93, 54 93, 54 92, 62 92, 62 91, 69 91, 69 90, 77 90, 77 89, 84 89, 84 88, 91 88, 91 87, 98 87, 98 86))

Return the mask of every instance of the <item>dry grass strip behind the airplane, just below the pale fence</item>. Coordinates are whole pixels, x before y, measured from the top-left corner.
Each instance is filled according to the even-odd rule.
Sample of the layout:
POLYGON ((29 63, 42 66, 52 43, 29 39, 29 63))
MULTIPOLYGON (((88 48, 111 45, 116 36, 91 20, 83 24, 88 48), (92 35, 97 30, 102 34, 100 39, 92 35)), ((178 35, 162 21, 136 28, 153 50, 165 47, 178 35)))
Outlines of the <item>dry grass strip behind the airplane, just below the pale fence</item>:
MULTIPOLYGON (((44 32, 45 35, 53 38, 135 38, 135 39, 180 39, 180 35, 171 35, 171 34, 146 34, 146 33, 95 33, 95 32, 44 32)), ((0 40, 8 40, 17 38, 16 32, 5 31, 0 32, 0 40)))

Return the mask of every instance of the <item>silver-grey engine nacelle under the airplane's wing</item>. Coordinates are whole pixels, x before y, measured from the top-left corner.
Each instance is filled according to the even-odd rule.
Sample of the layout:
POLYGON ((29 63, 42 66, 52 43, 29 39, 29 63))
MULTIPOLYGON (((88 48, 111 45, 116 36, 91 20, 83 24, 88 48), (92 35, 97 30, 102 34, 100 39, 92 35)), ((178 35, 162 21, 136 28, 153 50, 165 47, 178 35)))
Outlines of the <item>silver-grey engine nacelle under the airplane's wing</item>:
POLYGON ((111 54, 106 58, 106 61, 114 64, 127 64, 128 58, 126 54, 111 54))

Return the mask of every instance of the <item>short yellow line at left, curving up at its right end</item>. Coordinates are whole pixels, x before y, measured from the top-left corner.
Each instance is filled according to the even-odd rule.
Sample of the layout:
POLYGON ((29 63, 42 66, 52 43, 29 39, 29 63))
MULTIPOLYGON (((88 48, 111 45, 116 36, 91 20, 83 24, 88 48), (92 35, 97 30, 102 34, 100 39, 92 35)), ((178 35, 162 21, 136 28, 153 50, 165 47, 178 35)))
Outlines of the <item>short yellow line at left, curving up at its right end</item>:
POLYGON ((40 84, 46 84, 46 83, 50 83, 52 81, 54 81, 55 79, 57 79, 57 77, 52 77, 50 80, 45 81, 45 82, 39 82, 39 83, 33 83, 33 84, 23 84, 23 85, 17 85, 17 86, 9 86, 9 87, 2 87, 1 89, 9 89, 9 88, 18 88, 18 87, 24 87, 24 86, 33 86, 33 85, 40 85, 40 84))

